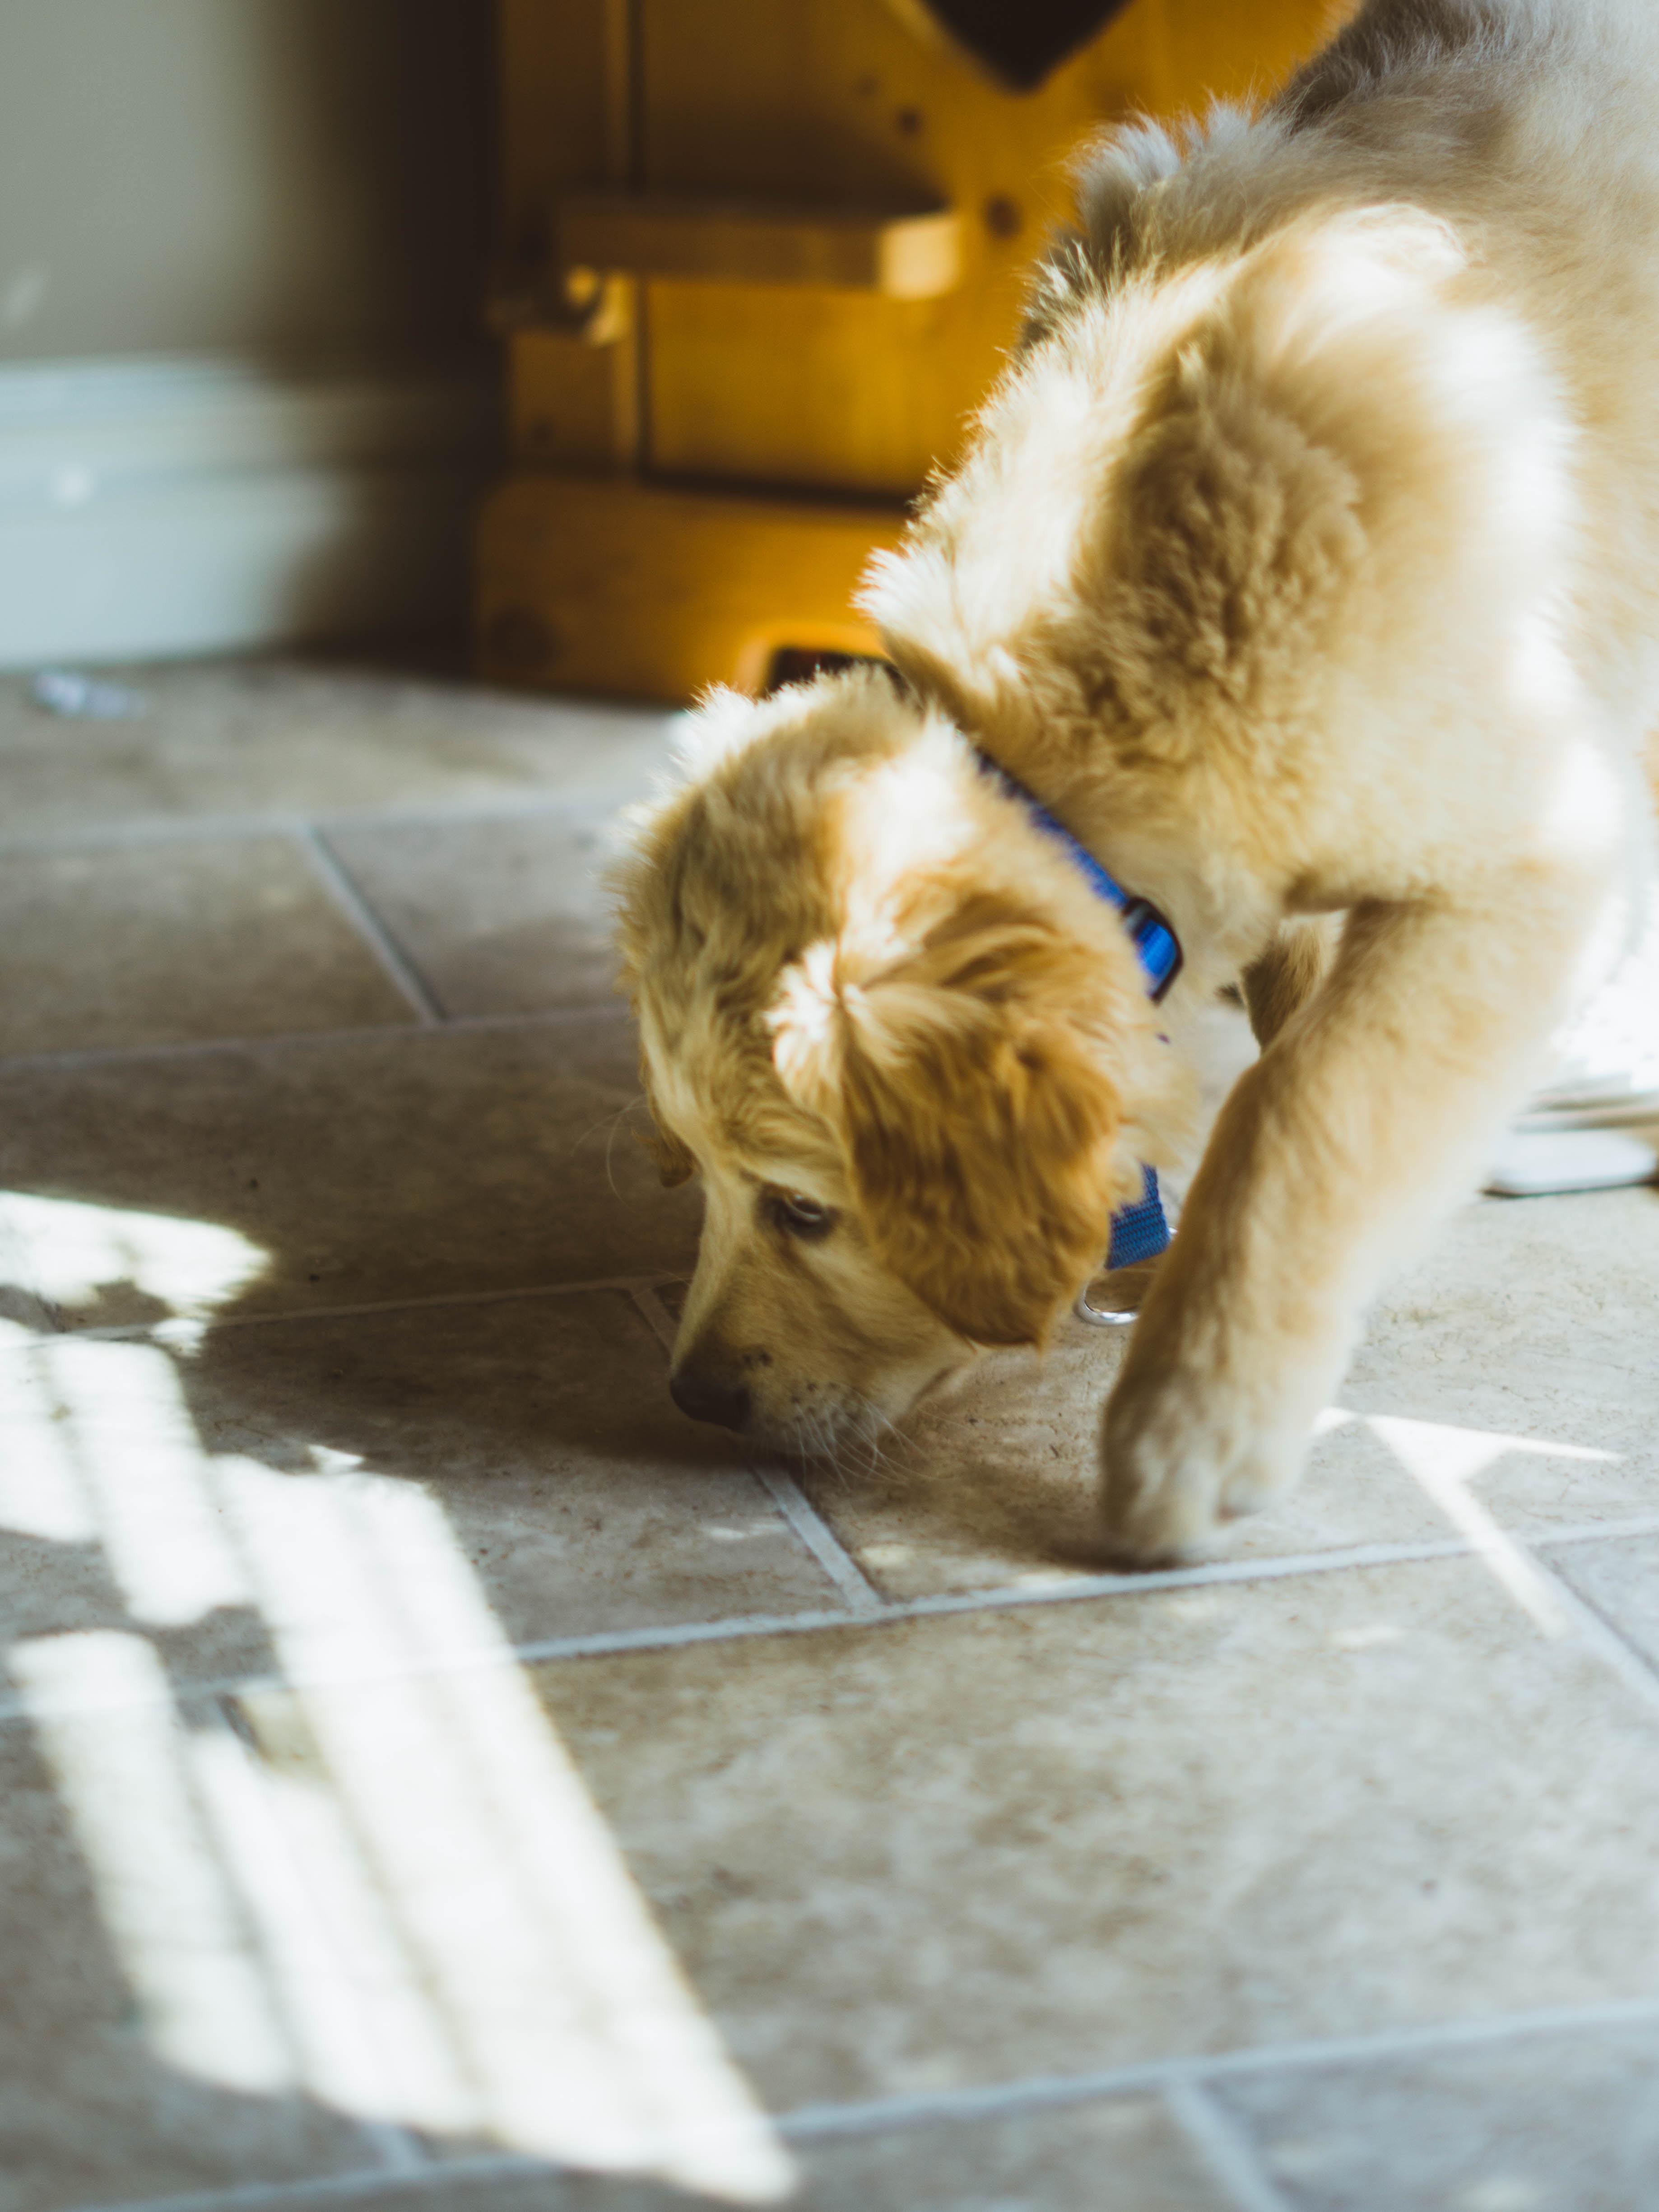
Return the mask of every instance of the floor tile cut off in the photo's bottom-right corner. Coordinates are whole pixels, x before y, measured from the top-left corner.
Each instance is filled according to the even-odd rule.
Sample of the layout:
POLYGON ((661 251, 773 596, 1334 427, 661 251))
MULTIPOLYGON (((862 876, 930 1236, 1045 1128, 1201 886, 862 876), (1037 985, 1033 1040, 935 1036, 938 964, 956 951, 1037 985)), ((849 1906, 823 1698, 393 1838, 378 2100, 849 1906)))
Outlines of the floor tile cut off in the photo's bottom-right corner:
POLYGON ((1234 2079, 1290 2212, 1648 2212, 1659 2028, 1234 2079))

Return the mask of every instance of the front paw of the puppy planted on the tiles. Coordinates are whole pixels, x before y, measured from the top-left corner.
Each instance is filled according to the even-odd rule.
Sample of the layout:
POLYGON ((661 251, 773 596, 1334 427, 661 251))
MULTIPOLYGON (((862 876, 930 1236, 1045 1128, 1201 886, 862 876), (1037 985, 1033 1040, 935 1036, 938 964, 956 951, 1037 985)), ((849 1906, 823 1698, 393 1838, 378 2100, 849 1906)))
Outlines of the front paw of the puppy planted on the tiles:
POLYGON ((1298 1473, 1301 1444, 1212 1378, 1124 1378, 1106 1407, 1106 1548, 1124 1566, 1179 1566, 1259 1513, 1298 1473))

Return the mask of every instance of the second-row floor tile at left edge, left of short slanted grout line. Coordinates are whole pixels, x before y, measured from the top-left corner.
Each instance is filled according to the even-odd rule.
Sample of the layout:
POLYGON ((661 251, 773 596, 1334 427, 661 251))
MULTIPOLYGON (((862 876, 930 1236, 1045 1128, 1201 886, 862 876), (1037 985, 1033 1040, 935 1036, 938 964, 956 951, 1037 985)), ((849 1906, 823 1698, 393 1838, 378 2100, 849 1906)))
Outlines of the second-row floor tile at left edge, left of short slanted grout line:
POLYGON ((409 1020, 292 838, 0 863, 0 1053, 409 1020))

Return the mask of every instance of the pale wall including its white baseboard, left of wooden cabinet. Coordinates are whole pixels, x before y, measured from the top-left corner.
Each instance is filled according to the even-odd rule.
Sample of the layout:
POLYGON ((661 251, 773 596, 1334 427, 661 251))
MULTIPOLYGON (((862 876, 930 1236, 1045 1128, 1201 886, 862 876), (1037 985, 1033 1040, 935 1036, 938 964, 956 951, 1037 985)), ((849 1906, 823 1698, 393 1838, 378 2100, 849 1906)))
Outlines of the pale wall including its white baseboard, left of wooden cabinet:
POLYGON ((0 661, 460 615, 489 71, 489 0, 0 0, 0 661))

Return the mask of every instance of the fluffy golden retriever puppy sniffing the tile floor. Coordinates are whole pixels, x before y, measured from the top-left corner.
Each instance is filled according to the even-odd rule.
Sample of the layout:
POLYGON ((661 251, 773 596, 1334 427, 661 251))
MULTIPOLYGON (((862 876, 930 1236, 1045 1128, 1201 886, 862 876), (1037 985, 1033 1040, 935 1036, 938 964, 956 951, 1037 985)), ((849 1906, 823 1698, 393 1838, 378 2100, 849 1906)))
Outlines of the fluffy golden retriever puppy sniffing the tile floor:
POLYGON ((1659 9, 1374 0, 1256 117, 1082 173, 854 672, 697 717, 622 942, 708 1221, 672 1389, 874 1433, 1044 1340, 1181 1026, 1263 1040, 1113 1391, 1104 1540, 1294 1478, 1367 1298, 1635 925, 1659 721, 1659 9), (1168 918, 1130 931, 1018 779, 1168 918))

